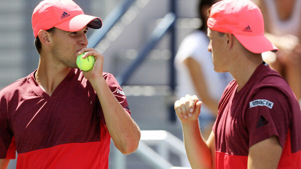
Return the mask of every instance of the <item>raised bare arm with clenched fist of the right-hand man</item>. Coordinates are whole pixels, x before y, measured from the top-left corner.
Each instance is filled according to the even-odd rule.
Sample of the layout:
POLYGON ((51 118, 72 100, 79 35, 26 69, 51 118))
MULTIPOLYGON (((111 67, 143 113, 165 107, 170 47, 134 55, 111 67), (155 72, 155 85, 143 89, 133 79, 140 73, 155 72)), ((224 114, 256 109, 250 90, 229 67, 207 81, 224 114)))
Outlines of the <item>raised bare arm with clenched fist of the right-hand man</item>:
POLYGON ((201 104, 197 96, 186 95, 175 102, 175 110, 182 122, 185 149, 192 169, 214 169, 214 133, 211 133, 206 143, 198 121, 201 104))

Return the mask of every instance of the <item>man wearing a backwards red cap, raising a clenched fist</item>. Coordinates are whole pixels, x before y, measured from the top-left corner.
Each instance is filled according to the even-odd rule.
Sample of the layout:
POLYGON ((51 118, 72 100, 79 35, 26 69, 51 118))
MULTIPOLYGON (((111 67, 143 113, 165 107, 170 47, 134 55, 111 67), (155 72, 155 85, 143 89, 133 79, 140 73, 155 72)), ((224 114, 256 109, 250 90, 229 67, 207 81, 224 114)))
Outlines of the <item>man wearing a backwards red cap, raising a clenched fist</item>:
POLYGON ((279 73, 261 53, 278 49, 264 36, 264 20, 251 0, 212 5, 208 25, 214 70, 235 78, 224 90, 207 142, 200 134, 202 102, 175 102, 193 169, 301 169, 301 109, 279 73))

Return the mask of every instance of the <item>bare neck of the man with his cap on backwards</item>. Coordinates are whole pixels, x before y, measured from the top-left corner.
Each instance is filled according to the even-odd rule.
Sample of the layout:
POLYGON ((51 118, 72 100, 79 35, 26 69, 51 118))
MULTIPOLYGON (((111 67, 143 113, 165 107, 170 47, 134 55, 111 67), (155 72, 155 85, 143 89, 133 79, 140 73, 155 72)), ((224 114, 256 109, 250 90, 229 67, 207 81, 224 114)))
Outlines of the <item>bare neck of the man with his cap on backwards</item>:
POLYGON ((244 56, 237 57, 237 62, 232 69, 229 70, 231 75, 237 81, 238 89, 240 91, 248 82, 255 69, 263 62, 261 54, 247 53, 244 56))

